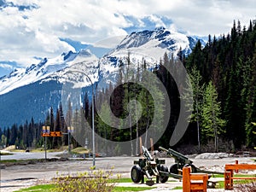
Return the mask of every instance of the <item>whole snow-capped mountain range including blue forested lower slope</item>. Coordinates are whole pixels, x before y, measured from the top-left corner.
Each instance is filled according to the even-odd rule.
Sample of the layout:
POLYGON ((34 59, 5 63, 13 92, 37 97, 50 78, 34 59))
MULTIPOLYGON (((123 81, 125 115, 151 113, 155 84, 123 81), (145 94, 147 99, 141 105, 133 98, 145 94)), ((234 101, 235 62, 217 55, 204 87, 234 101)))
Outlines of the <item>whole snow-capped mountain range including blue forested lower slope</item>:
POLYGON ((119 61, 124 61, 128 54, 135 68, 143 59, 153 66, 165 53, 177 56, 182 49, 188 55, 196 41, 195 38, 161 27, 153 31, 132 32, 100 59, 90 50, 82 49, 75 53, 63 53, 53 59, 44 58, 37 65, 15 70, 0 79, 0 127, 24 123, 31 117, 36 121, 44 120, 49 108, 57 108, 61 102, 63 84, 75 82, 78 87, 90 86, 88 80, 84 84, 84 81, 76 79, 78 76, 67 76, 68 71, 85 73, 94 84, 109 74, 115 76, 119 61))

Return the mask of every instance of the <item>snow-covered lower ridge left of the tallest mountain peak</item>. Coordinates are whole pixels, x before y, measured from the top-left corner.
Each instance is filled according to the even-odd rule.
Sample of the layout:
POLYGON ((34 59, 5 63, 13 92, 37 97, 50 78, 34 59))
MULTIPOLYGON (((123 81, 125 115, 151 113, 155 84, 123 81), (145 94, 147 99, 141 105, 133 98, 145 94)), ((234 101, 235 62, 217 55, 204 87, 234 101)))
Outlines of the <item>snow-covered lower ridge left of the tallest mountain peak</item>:
POLYGON ((39 80, 48 78, 50 75, 72 66, 74 63, 81 61, 96 61, 96 55, 92 55, 88 50, 80 50, 78 53, 69 51, 63 53, 53 59, 44 58, 37 65, 25 68, 20 68, 9 76, 4 76, 0 79, 0 95, 8 93, 10 90, 15 90, 21 86, 35 83, 39 80))

